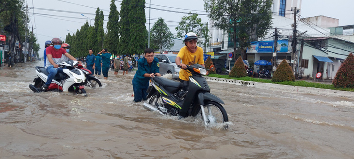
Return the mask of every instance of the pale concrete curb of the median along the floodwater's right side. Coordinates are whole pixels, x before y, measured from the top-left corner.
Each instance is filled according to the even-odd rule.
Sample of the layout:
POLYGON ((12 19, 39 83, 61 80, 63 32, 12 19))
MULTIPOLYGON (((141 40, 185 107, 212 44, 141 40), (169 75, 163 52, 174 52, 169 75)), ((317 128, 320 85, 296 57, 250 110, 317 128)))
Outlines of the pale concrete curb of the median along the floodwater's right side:
POLYGON ((204 76, 204 78, 207 79, 207 81, 211 81, 211 82, 227 83, 227 84, 233 84, 233 85, 245 86, 245 87, 255 87, 259 89, 277 90, 277 91, 299 93, 299 94, 317 94, 317 95, 324 95, 329 97, 354 98, 354 92, 350 92, 350 91, 322 89, 322 88, 314 88, 314 87, 288 86, 288 85, 242 81, 242 80, 225 79, 225 78, 208 77, 208 76, 204 76))

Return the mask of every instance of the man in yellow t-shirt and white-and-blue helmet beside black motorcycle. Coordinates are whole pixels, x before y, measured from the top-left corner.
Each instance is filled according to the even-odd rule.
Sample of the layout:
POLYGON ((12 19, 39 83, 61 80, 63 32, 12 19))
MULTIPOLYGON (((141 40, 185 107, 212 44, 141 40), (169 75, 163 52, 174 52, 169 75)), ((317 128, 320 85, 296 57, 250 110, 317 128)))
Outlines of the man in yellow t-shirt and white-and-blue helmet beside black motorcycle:
POLYGON ((192 74, 187 72, 187 65, 194 65, 198 63, 205 67, 203 59, 203 49, 197 46, 198 37, 195 33, 189 32, 184 37, 184 44, 176 57, 176 64, 181 66, 179 71, 179 80, 183 84, 183 90, 187 91, 189 87, 189 76, 192 74), (182 63, 180 62, 182 60, 182 63))

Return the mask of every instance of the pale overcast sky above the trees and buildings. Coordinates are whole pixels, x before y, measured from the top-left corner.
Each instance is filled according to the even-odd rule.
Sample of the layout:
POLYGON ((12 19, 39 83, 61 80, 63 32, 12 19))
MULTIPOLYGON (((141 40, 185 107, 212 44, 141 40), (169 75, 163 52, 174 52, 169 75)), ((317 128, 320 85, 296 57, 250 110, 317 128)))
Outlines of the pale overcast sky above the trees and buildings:
MULTIPOLYGON (((32 26, 34 28, 33 32, 37 35, 41 47, 39 55, 42 57, 45 41, 54 37, 65 39, 68 33, 72 35, 72 32, 80 29, 86 20, 90 24, 88 18, 93 19, 91 25, 94 25, 97 7, 105 15, 104 28, 106 28, 111 0, 26 0, 25 2, 31 8, 29 10, 29 28, 32 29, 32 26)), ((115 1, 118 11, 120 11, 120 3, 121 0, 115 1)), ((353 13, 353 4, 354 0, 336 0, 336 3, 333 0, 302 0, 301 15, 303 17, 324 15, 339 19, 339 26, 352 25, 354 24, 354 16, 348 13, 353 13)), ((145 6, 148 5, 149 0, 146 0, 145 6)), ((177 33, 175 28, 181 17, 187 15, 185 13, 191 11, 192 13, 207 14, 204 11, 203 0, 151 0, 151 8, 150 28, 157 18, 162 17, 175 35, 177 33)), ((145 14, 146 29, 148 29, 149 9, 145 9, 145 14)), ((199 15, 199 17, 202 18, 203 23, 209 22, 206 15, 199 15)))

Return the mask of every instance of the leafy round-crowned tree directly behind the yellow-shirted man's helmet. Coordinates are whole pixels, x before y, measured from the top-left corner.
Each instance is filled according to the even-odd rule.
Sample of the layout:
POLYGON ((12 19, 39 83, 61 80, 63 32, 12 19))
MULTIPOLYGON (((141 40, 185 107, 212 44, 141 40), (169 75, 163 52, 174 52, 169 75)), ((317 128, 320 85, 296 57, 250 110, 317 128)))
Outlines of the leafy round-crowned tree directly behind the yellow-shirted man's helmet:
POLYGON ((209 43, 209 29, 208 23, 202 23, 202 19, 198 17, 198 14, 192 14, 183 16, 178 26, 176 27, 177 37, 184 38, 188 32, 194 32, 199 38, 204 39, 202 44, 209 43))

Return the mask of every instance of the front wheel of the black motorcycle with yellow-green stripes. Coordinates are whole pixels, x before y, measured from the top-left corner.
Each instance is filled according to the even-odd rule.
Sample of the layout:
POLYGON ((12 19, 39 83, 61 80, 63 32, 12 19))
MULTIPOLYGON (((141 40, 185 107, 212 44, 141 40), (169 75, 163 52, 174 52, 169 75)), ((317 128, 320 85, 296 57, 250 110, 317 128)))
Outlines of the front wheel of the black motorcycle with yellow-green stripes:
MULTIPOLYGON (((208 101, 207 104, 204 105, 204 112, 207 116, 208 124, 221 124, 228 121, 225 108, 218 102, 208 101)), ((198 114, 203 118, 201 110, 199 110, 198 114)))

